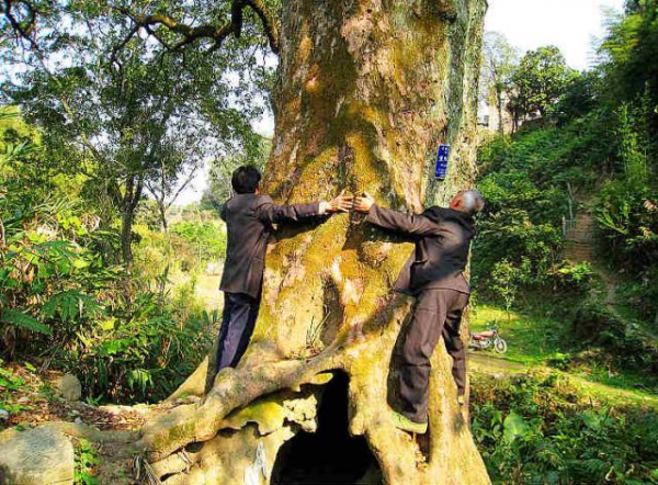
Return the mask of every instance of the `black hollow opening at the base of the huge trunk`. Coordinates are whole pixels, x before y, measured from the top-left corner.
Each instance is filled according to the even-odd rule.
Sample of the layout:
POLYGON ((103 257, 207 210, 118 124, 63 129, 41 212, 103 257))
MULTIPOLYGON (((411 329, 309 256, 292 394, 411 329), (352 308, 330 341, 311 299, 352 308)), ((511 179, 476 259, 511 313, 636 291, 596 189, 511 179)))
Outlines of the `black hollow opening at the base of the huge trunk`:
POLYGON ((377 460, 363 437, 348 432, 348 375, 337 372, 318 409, 318 430, 298 432, 279 450, 272 484, 381 484, 377 460))

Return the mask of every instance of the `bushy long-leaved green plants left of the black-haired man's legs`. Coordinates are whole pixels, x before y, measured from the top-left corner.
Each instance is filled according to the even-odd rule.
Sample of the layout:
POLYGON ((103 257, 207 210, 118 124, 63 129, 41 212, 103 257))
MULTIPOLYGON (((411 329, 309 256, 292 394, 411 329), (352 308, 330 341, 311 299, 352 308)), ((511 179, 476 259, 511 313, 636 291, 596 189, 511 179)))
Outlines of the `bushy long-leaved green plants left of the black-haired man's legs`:
POLYGON ((152 293, 121 302, 111 317, 82 329, 59 359, 91 396, 162 398, 194 370, 209 343, 201 309, 184 315, 182 303, 162 306, 152 293))

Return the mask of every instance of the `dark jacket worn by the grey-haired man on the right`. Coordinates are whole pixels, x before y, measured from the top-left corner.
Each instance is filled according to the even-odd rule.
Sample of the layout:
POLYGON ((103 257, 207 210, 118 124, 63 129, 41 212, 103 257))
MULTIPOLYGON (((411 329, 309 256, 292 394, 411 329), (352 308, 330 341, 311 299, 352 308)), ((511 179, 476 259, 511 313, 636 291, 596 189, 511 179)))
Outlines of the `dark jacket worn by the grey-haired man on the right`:
POLYGON ((463 271, 470 239, 475 236, 473 216, 436 206, 420 215, 407 215, 374 204, 366 221, 413 238, 416 250, 395 283, 396 291, 409 294, 430 289, 470 292, 463 271))

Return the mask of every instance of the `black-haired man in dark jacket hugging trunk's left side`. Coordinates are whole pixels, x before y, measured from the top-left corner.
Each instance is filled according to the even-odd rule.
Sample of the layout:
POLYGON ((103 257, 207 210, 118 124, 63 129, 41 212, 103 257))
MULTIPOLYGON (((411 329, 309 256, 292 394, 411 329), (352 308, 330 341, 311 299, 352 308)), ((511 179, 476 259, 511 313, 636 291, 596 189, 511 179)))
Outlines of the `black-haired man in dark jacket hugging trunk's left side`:
POLYGON ((224 314, 219 328, 216 370, 235 368, 247 350, 258 316, 268 239, 273 224, 299 222, 352 206, 342 194, 330 202, 275 205, 260 193, 261 173, 253 166, 234 171, 236 195, 222 207, 226 222, 227 248, 219 290, 224 292, 224 314))

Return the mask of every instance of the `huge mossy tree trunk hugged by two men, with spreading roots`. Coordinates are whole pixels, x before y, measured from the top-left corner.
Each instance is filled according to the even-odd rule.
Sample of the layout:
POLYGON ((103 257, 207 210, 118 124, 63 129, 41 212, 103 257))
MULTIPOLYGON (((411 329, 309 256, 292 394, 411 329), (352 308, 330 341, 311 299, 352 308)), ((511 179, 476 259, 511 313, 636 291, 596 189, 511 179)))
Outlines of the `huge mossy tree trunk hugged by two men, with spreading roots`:
MULTIPOLYGON (((469 185, 485 8, 484 0, 286 1, 266 192, 295 203, 367 191, 384 205, 420 211, 469 185), (451 143, 453 156, 446 181, 432 182, 440 143, 451 143)), ((139 444, 154 474, 167 484, 277 483, 302 453, 291 448, 295 435, 315 431, 319 419, 318 436, 344 426, 367 443, 372 460, 352 470, 367 475, 361 483, 489 483, 442 343, 427 438, 397 430, 389 417, 392 354, 410 308, 392 284, 411 248, 358 214, 283 230, 240 365, 204 393, 204 363, 171 399, 202 401, 145 426, 139 444), (322 401, 331 407, 318 415, 322 401), (344 422, 331 417, 345 409, 344 422), (250 474, 260 477, 249 482, 250 474)))

